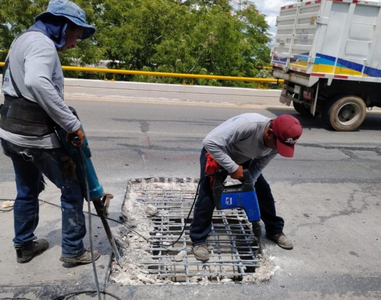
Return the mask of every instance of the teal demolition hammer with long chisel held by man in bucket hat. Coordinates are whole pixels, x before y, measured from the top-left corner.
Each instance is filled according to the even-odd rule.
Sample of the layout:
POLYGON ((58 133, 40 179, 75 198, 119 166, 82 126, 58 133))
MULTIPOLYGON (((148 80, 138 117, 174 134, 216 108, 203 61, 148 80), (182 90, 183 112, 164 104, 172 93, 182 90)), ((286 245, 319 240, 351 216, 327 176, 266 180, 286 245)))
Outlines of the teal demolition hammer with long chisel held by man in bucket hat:
MULTIPOLYGON (((75 109, 70 106, 69 109, 78 118, 75 109)), ((83 130, 82 125, 81 129, 83 130)), ((107 193, 105 194, 102 185, 99 184, 98 176, 96 175, 93 163, 91 162, 91 152, 87 138, 85 137, 83 140, 82 146, 76 147, 72 144, 72 141, 74 144, 80 145, 80 137, 74 135, 72 141, 67 141, 67 132, 64 129, 57 126, 56 132, 62 147, 65 149, 67 155, 69 155, 69 157, 76 164, 75 172, 82 188, 83 197, 86 199, 86 201, 93 202, 96 213, 101 218, 102 224, 106 231, 107 238, 109 239, 110 245, 112 247, 112 252, 114 252, 115 260, 117 261, 118 265, 123 268, 122 258, 120 257, 117 245, 115 244, 114 236, 112 235, 110 226, 107 223, 106 219, 109 216, 108 208, 110 199, 113 198, 113 195, 107 193)))

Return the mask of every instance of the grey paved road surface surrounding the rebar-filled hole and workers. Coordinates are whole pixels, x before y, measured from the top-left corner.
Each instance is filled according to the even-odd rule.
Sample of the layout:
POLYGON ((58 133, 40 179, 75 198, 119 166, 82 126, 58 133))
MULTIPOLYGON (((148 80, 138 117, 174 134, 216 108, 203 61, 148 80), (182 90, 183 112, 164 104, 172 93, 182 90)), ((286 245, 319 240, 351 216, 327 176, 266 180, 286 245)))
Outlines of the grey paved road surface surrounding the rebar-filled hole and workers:
MULTIPOLYGON (((207 287, 109 285, 109 291, 123 299, 381 298, 381 114, 368 113, 358 131, 333 132, 322 126, 320 118, 304 118, 287 109, 254 110, 180 103, 67 103, 77 109, 85 127, 102 185, 115 195, 111 207, 115 217, 120 212, 128 179, 198 177, 203 137, 232 116, 256 112, 276 117, 290 113, 301 121, 304 129, 295 157, 277 157, 264 171, 277 200, 278 214, 285 219, 285 233, 295 243, 291 251, 267 244, 267 252, 280 267, 270 281, 207 287)), ((0 169, 2 192, 11 195, 13 171, 3 155, 0 169)), ((6 218, 9 223, 11 217, 6 218)), ((3 244, 5 238, 11 236, 4 231, 2 227, 3 244)), ((14 260, 10 240, 7 244, 10 245, 0 246, 0 253, 5 249, 9 260, 14 260)), ((0 271, 1 277, 5 272, 15 270, 17 274, 20 271, 5 260, 0 264, 6 266, 0 271)), ((38 270, 44 267, 38 266, 38 270)), ((60 268, 61 265, 57 265, 49 276, 50 284, 65 285, 65 280, 69 280, 60 268)), ((91 277, 91 269, 86 274, 91 277)), ((39 280, 43 277, 38 276, 39 280)), ((3 279, 0 284, 0 298, 1 295, 9 297, 15 286, 34 284, 26 276, 22 280, 18 276, 11 277, 13 283, 3 279)))

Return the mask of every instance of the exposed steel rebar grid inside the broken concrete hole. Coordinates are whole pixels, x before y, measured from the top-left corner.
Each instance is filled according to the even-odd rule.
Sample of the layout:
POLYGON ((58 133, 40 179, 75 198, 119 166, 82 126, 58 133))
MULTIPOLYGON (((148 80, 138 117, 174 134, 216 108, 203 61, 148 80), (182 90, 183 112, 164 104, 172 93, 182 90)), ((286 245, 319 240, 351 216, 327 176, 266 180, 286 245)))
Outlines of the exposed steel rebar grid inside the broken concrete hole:
POLYGON ((176 190, 165 189, 165 185, 160 189, 157 185, 155 182, 155 188, 150 188, 149 184, 133 187, 136 205, 145 208, 150 204, 159 211, 158 215, 149 217, 154 229, 150 232, 151 244, 143 249, 152 253, 152 259, 140 261, 139 266, 162 279, 187 283, 202 279, 220 282, 225 278, 240 281, 245 274, 255 272, 259 266, 256 259, 259 249, 243 210, 214 211, 207 239, 210 260, 206 263, 196 260, 192 253, 189 226, 193 213, 178 243, 165 246, 173 243, 181 233, 196 191, 194 182, 189 185, 181 182, 176 190), (182 250, 186 250, 186 254, 181 261, 175 261, 182 250))

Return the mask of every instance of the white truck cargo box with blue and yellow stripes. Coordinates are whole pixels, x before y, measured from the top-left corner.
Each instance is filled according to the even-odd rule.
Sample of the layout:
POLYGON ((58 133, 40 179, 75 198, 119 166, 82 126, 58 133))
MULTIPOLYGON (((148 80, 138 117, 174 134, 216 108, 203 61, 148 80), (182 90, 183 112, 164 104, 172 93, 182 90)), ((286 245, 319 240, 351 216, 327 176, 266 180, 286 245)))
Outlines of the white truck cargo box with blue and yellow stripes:
POLYGON ((380 7, 360 0, 283 6, 272 50, 274 76, 306 86, 320 77, 381 82, 380 7))

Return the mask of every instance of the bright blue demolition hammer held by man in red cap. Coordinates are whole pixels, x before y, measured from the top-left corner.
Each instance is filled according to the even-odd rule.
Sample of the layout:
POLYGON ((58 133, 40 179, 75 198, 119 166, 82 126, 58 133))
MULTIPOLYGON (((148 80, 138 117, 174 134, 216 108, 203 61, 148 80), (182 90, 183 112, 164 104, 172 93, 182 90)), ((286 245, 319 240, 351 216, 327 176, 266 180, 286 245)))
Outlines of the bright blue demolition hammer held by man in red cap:
POLYGON ((259 221, 261 213, 259 212, 258 198, 255 193, 254 183, 251 179, 248 169, 243 170, 243 180, 241 184, 224 185, 229 172, 218 170, 215 173, 213 182, 213 198, 218 210, 227 210, 241 208, 245 211, 248 221, 251 223, 253 233, 258 243, 259 252, 263 255, 261 241, 261 226, 259 221))

